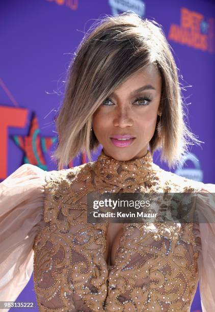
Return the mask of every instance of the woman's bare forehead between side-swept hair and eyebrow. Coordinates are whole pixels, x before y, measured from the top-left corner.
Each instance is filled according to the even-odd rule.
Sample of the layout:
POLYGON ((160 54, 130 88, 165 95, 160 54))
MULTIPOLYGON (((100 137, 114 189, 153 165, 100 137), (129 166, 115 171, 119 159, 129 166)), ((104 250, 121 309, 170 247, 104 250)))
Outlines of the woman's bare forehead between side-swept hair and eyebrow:
POLYGON ((114 90, 114 93, 129 91, 133 88, 138 89, 144 85, 152 85, 155 90, 161 88, 161 76, 155 65, 150 64, 145 68, 133 73, 125 82, 114 90))

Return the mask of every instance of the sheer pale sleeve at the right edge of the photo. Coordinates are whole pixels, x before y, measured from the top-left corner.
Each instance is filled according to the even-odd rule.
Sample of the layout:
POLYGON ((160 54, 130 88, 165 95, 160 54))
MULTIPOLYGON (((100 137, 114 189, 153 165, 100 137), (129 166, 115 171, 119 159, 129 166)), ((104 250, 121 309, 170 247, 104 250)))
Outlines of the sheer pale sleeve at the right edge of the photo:
POLYGON ((199 289, 203 312, 215 310, 215 185, 203 184, 196 199, 194 235, 199 251, 199 289))

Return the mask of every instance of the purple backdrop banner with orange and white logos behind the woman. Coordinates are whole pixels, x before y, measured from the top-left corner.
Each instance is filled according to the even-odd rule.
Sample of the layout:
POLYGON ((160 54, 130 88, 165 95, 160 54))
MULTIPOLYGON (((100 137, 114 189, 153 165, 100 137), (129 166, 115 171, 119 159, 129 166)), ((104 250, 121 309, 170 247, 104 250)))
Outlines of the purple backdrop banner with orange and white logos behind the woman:
MULTIPOLYGON (((0 181, 24 163, 57 169, 50 158, 57 144, 54 118, 72 55, 95 19, 133 11, 162 25, 179 69, 187 122, 204 142, 172 171, 214 184, 214 9, 212 0, 2 0, 0 181)), ((86 154, 79 154, 69 167, 85 162, 86 154)), ((158 153, 154 162, 169 170, 158 153)), ((26 298, 36 302, 32 278, 17 301, 26 298)), ((191 311, 201 311, 199 289, 191 311)))

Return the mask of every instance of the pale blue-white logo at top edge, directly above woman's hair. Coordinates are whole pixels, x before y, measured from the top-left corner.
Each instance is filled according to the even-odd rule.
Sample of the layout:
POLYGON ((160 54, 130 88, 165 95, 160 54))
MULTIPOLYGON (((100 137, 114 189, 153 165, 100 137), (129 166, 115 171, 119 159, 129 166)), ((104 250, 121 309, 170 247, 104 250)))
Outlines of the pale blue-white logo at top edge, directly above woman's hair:
POLYGON ((109 0, 113 15, 120 12, 133 11, 140 16, 145 15, 145 4, 142 0, 109 0))

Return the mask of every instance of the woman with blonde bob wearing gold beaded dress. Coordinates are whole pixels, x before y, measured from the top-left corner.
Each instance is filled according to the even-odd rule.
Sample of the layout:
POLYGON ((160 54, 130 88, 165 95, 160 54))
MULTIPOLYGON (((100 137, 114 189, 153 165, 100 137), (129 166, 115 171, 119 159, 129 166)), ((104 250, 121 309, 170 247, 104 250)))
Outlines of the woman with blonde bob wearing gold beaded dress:
POLYGON ((176 65, 159 26, 106 17, 79 45, 57 116, 58 171, 22 165, 1 184, 0 298, 15 300, 33 271, 40 311, 187 311, 198 280, 215 308, 215 186, 169 166, 190 141, 176 65), (97 161, 62 169, 80 150, 97 161), (87 195, 196 193, 205 223, 88 223, 87 195), (34 257, 34 258, 33 258, 34 257))

